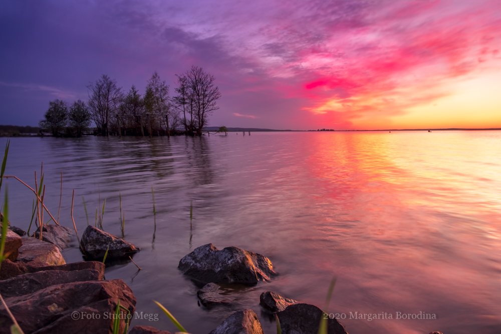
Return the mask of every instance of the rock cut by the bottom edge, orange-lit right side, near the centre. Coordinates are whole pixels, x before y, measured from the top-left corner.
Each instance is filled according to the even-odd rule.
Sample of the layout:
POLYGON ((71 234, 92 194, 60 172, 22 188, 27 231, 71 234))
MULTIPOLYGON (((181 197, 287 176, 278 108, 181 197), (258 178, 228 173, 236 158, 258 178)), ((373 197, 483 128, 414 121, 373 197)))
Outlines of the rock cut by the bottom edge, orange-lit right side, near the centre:
POLYGON ((264 334, 264 331, 256 313, 252 309, 245 309, 228 316, 209 334, 264 334))

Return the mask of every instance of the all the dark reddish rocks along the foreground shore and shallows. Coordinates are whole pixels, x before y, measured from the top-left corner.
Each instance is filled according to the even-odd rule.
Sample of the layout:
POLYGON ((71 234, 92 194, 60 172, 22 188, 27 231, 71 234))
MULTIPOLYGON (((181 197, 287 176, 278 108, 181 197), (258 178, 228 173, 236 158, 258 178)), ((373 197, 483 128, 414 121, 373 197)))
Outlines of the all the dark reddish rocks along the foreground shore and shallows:
MULTIPOLYGON (((39 232, 35 232, 37 237, 39 232)), ((45 225, 43 240, 39 240, 22 237, 26 233, 21 229, 11 227, 8 231, 5 251, 10 256, 0 269, 0 293, 25 334, 113 333, 113 316, 91 315, 114 315, 118 303, 134 314, 134 293, 121 279, 105 279, 102 260, 105 256, 128 258, 140 249, 88 226, 80 246, 89 261, 66 263, 61 249, 71 241, 74 235, 71 232, 63 226, 45 225)), ((262 254, 238 247, 218 250, 212 244, 202 245, 184 256, 179 269, 201 287, 197 296, 207 308, 231 304, 234 284, 255 285, 278 275, 270 259, 262 254)), ((272 291, 263 292, 259 303, 265 312, 279 319, 283 333, 318 333, 324 314, 319 307, 272 291)), ((12 324, 7 310, 0 305, 0 334, 10 334, 12 324)), ((125 320, 120 321, 119 332, 123 333, 125 328, 125 320)), ((331 318, 327 319, 327 332, 347 334, 345 327, 331 318)), ((128 333, 170 334, 150 326, 134 326, 128 333)), ((209 334, 231 333, 264 334, 264 331, 257 314, 244 309, 231 314, 209 334)))

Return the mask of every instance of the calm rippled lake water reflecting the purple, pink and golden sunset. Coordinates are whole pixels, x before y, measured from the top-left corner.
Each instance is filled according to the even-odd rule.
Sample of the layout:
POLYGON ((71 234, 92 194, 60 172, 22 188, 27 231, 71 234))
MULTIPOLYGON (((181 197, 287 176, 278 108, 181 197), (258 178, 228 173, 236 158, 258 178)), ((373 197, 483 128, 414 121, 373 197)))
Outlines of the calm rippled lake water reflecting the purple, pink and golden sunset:
MULTIPOLYGON (((500 131, 14 138, 6 174, 33 184, 42 161, 46 203, 56 214, 63 173, 68 227, 75 188, 80 234, 83 196, 92 225, 106 198, 103 227, 121 235, 121 191, 125 239, 142 248, 134 260, 143 270, 115 265, 106 278, 131 286, 137 311, 158 313, 151 301, 158 300, 194 334, 240 308, 253 308, 272 334, 261 292, 323 305, 333 276, 331 311, 346 314, 350 334, 501 330, 500 131), (177 265, 209 242, 265 254, 280 276, 236 289, 232 307, 200 307, 197 287, 177 265), (395 319, 420 311, 437 319, 395 319), (394 318, 349 319, 350 312, 394 318)), ((9 193, 10 220, 26 229, 32 196, 13 180, 9 193)), ((63 254, 81 259, 76 241, 63 254)), ((132 324, 175 330, 161 314, 132 324)))

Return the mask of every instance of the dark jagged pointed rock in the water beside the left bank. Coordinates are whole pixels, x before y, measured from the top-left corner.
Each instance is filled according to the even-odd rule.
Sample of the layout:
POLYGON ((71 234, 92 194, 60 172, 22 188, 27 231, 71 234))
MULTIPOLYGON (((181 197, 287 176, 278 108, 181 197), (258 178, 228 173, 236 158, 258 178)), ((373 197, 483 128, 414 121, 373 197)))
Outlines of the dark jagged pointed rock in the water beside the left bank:
POLYGON ((108 246, 107 259, 128 258, 140 250, 139 247, 134 246, 130 242, 101 231, 94 226, 87 226, 82 235, 81 245, 85 250, 85 255, 95 260, 103 259, 108 246))

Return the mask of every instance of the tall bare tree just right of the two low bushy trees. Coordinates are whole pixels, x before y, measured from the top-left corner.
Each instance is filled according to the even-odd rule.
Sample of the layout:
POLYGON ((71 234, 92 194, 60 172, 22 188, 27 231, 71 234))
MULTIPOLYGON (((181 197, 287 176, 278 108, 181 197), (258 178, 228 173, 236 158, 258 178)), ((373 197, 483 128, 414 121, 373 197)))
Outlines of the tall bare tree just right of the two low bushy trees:
POLYGON ((103 136, 107 136, 112 117, 116 114, 122 100, 122 88, 117 86, 116 80, 107 75, 101 77, 95 84, 87 86, 89 89, 89 109, 92 120, 103 136))

